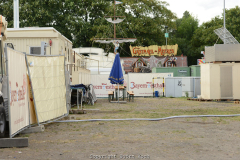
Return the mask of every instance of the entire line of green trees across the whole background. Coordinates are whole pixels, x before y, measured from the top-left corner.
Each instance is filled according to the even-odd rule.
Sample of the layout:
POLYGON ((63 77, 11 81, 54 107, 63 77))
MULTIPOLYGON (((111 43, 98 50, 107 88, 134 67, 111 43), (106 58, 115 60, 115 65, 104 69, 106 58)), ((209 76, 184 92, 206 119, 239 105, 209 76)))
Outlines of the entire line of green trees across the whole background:
MULTIPOLYGON (((116 5, 116 15, 125 16, 116 25, 117 38, 137 38, 134 43, 121 44, 121 56, 130 56, 130 45, 164 45, 165 26, 168 26, 168 44, 178 44, 178 55, 188 56, 188 64, 196 64, 205 46, 223 43, 213 32, 223 26, 223 18, 213 17, 199 26, 198 19, 185 11, 177 19, 159 0, 122 0, 116 5)), ((94 38, 113 38, 113 25, 104 16, 114 15, 113 0, 21 0, 20 27, 54 27, 73 42, 73 47, 101 47, 113 51, 113 45, 95 43, 94 38)), ((13 1, 0 2, 0 14, 8 27, 13 27, 13 1)), ((240 8, 226 10, 226 28, 240 41, 240 8)))

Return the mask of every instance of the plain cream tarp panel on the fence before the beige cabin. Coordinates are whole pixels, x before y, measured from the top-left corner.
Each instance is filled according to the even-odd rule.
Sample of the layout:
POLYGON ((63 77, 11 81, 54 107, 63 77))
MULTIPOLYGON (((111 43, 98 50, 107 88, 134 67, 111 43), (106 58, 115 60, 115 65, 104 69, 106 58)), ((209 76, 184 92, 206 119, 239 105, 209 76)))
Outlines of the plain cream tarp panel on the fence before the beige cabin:
POLYGON ((64 56, 27 56, 38 123, 67 114, 64 56))

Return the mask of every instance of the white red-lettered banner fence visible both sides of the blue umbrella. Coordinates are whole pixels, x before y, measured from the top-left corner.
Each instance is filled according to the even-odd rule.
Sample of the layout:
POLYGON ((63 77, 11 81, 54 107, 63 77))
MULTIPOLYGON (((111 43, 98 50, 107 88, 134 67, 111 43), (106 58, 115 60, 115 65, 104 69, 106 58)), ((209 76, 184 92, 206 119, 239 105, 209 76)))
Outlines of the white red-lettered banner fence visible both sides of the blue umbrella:
MULTIPOLYGON (((108 97, 108 91, 114 91, 115 85, 108 80, 109 75, 91 75, 91 83, 97 97, 108 97)), ((152 96, 153 77, 173 77, 173 73, 128 73, 124 75, 124 86, 133 91, 134 96, 152 96)), ((154 79, 154 91, 163 93, 163 79, 154 79)))

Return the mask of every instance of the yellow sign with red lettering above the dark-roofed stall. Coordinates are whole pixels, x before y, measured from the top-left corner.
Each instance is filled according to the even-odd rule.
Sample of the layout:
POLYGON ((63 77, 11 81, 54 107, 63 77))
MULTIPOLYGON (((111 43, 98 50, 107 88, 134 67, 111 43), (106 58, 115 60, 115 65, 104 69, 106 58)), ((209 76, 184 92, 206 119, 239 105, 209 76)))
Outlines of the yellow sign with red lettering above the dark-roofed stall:
POLYGON ((135 56, 172 56, 177 55, 178 45, 165 45, 157 46, 152 45, 149 47, 130 46, 132 57, 135 56))

